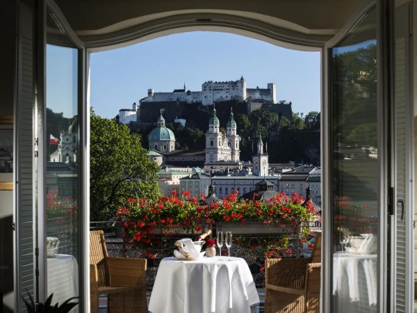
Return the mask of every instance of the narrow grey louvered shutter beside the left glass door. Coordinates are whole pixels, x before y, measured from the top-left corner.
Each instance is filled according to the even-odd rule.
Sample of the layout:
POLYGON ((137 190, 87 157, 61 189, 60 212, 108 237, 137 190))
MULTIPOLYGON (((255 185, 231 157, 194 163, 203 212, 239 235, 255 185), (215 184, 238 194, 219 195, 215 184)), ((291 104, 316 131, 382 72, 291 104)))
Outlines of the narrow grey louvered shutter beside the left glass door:
POLYGON ((34 219, 33 219, 33 9, 18 7, 17 108, 15 122, 15 222, 16 273, 15 310, 26 312, 22 296, 34 293, 34 219))

